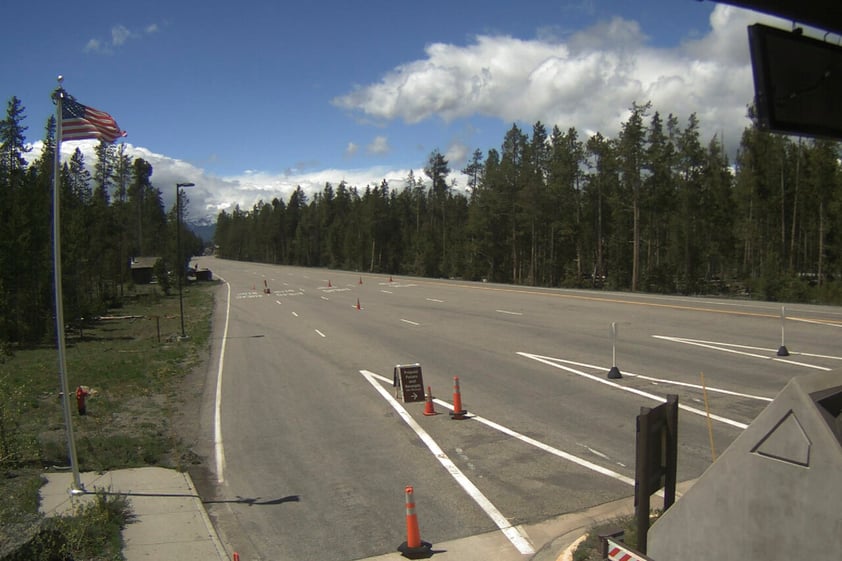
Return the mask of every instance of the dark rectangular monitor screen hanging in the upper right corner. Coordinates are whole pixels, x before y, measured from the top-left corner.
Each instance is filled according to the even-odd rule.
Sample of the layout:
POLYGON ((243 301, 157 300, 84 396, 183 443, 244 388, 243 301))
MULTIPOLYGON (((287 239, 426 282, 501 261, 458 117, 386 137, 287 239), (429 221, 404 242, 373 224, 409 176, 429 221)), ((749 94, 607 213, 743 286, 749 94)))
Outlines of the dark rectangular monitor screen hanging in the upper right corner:
POLYGON ((761 126, 842 139, 842 47, 761 24, 748 38, 761 126))

